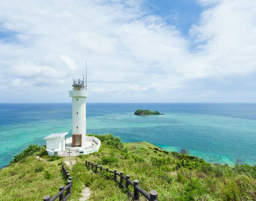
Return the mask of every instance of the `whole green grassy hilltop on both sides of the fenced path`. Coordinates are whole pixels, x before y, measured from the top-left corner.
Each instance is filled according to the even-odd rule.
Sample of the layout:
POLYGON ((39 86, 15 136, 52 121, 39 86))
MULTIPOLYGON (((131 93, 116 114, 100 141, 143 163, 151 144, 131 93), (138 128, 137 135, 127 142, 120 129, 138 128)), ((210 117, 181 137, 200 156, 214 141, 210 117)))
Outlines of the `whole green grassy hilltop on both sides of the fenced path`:
MULTIPOLYGON (((256 166, 209 164, 146 142, 121 143, 112 135, 97 137, 102 142, 99 152, 77 157, 77 164, 69 170, 74 182, 69 200, 78 201, 83 183, 92 190, 91 201, 131 200, 112 175, 86 169, 88 160, 138 179, 144 190, 158 191, 159 201, 256 201, 256 166)), ((25 154, 25 158, 0 170, 2 200, 41 200, 44 195, 53 196, 65 184, 60 173, 63 158, 43 156, 43 150, 25 154), (48 161, 35 159, 40 153, 48 161)))

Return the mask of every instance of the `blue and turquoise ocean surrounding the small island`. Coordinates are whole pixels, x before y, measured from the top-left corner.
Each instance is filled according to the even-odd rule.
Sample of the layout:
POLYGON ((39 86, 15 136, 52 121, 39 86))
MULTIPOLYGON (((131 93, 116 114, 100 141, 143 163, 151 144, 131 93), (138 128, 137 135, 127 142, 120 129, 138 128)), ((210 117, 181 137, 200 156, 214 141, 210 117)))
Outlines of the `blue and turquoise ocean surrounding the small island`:
MULTIPOLYGON (((147 141, 168 151, 185 148, 209 162, 256 163, 255 103, 87 103, 86 114, 87 133, 112 133, 123 142, 147 141), (137 109, 164 115, 133 115, 137 109)), ((71 103, 0 104, 0 168, 55 132, 71 135, 71 103)))

